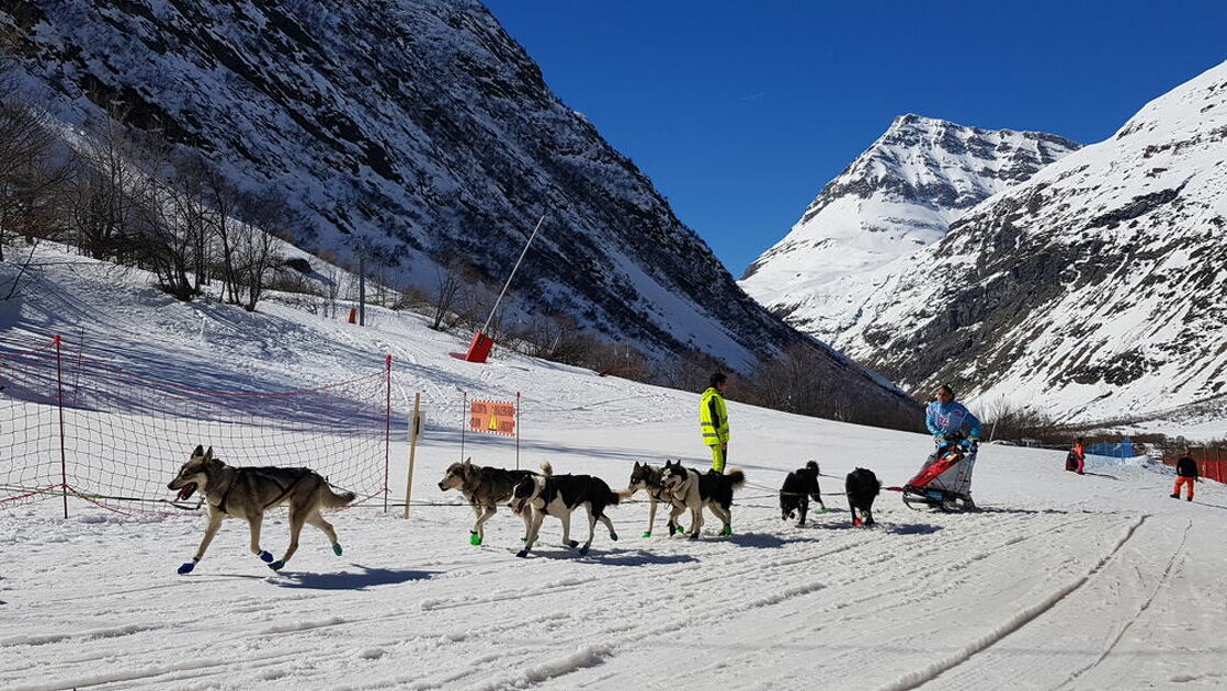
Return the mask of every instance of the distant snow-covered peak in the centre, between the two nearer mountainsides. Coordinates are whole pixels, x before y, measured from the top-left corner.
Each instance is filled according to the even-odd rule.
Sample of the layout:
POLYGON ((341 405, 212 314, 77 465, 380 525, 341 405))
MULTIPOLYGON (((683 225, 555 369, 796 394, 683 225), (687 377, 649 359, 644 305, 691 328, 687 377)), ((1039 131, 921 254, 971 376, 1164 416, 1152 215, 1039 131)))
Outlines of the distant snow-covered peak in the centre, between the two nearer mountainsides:
POLYGON ((941 239, 962 212, 1077 147, 1044 133, 899 115, 746 269, 741 287, 836 342, 872 291, 866 272, 941 239))

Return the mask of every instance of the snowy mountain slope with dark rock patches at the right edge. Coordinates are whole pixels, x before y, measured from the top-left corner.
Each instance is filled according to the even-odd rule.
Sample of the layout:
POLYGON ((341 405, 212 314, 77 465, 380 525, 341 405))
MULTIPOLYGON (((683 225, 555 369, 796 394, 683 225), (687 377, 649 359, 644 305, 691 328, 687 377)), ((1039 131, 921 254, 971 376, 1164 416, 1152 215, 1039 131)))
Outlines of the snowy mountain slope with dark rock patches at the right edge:
POLYGON ((975 206, 834 342, 1072 421, 1227 395, 1227 63, 975 206))

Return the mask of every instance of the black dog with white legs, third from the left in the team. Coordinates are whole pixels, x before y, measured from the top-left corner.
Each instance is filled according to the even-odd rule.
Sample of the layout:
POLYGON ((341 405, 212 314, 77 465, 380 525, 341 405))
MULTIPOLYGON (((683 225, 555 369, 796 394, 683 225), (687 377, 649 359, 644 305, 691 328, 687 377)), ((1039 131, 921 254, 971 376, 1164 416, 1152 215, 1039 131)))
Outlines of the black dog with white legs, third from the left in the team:
POLYGON ((550 464, 541 466, 545 475, 525 477, 515 484, 512 491, 512 501, 507 504, 512 511, 523 515, 531 513, 531 525, 524 549, 515 556, 526 557, 533 544, 536 542, 541 531, 541 522, 546 515, 552 515, 562 522, 562 544, 574 547, 579 542, 571 539, 571 513, 579 504, 588 506, 588 541, 579 547, 580 555, 587 555, 593 546, 593 533, 596 522, 600 520, 610 529, 610 539, 617 540, 614 524, 605 515, 605 507, 616 504, 621 500, 617 492, 610 490, 605 480, 591 475, 553 475, 550 464))

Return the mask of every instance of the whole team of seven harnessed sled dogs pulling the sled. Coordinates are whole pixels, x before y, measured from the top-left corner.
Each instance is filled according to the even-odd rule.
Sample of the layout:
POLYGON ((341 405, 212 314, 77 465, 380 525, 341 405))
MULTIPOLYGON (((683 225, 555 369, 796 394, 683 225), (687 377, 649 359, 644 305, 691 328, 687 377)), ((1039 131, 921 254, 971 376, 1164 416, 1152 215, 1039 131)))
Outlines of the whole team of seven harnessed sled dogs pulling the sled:
MULTIPOLYGON (((799 525, 805 524, 809 501, 818 502, 823 511, 822 496, 818 490, 818 465, 814 461, 805 468, 788 474, 780 488, 780 514, 784 520, 800 514, 799 525)), ((650 536, 655 528, 656 508, 667 504, 670 508, 666 525, 669 534, 682 533, 679 519, 690 511, 691 540, 698 539, 703 529, 703 509, 707 508, 720 519, 720 535, 733 534, 733 493, 746 482, 746 475, 737 469, 728 469, 724 474, 699 473, 677 461, 665 461, 663 466, 636 463, 631 471, 626 490, 614 491, 600 477, 593 475, 555 475, 548 463, 541 464, 541 473, 530 470, 504 470, 474 465, 471 459, 453 463, 439 481, 439 490, 459 490, 465 502, 472 507, 476 522, 470 530, 469 540, 481 545, 485 539, 483 527, 498 511, 498 504, 506 503, 512 513, 524 520, 524 546, 517 556, 528 556, 540 536, 541 524, 546 515, 562 522, 562 542, 567 547, 577 547, 579 542, 571 539, 571 514, 580 506, 588 511, 588 540, 579 546, 579 554, 587 555, 593 544, 596 523, 609 529, 610 539, 617 540, 614 524, 605 515, 609 506, 617 504, 634 496, 640 490, 648 495, 648 529, 643 536, 650 536)), ((281 569, 298 550, 298 536, 304 524, 319 528, 328 535, 333 552, 341 555, 341 545, 336 530, 324 520, 321 508, 340 508, 352 503, 353 492, 334 492, 328 481, 318 473, 306 468, 236 468, 213 458, 213 449, 198 446, 191 457, 179 469, 178 475, 167 485, 178 490, 177 498, 185 501, 193 493, 200 492, 209 503, 209 524, 200 547, 190 562, 179 567, 179 573, 190 573, 205 556, 205 550, 221 528, 226 518, 243 518, 250 530, 253 555, 260 557, 274 571, 281 569), (274 561, 270 552, 260 546, 260 528, 264 513, 279 506, 290 508, 290 545, 280 560, 274 561)), ((874 524, 872 504, 881 484, 871 470, 858 468, 848 474, 848 506, 852 509, 853 524, 874 524), (858 511, 864 519, 858 518, 858 511)))

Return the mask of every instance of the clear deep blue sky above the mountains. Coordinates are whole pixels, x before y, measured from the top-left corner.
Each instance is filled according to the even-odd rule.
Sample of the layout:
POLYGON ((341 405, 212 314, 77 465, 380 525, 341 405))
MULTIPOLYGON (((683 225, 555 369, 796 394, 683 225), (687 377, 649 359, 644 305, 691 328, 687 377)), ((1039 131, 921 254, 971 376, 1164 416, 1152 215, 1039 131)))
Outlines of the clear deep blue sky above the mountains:
POLYGON ((1227 0, 485 0, 740 277, 894 115, 1101 141, 1227 59, 1227 0))

